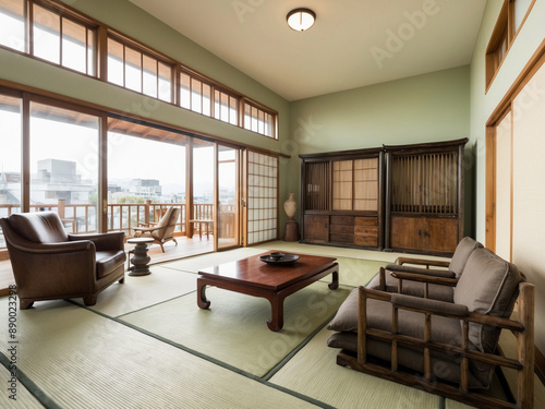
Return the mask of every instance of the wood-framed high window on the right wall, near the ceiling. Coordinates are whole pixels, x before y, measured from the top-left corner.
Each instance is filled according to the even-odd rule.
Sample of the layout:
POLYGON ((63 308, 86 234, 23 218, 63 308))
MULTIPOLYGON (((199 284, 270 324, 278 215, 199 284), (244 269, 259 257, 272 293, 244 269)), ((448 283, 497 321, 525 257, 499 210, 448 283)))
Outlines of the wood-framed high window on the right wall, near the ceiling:
POLYGON ((524 17, 521 20, 520 26, 516 29, 514 27, 514 2, 517 0, 505 0, 501 5, 501 10, 492 32, 488 46, 486 47, 485 55, 485 93, 488 92, 494 79, 496 77, 504 60, 506 59, 511 45, 513 44, 517 35, 524 25, 532 8, 535 4, 535 0, 532 0, 524 17))

